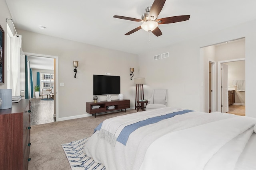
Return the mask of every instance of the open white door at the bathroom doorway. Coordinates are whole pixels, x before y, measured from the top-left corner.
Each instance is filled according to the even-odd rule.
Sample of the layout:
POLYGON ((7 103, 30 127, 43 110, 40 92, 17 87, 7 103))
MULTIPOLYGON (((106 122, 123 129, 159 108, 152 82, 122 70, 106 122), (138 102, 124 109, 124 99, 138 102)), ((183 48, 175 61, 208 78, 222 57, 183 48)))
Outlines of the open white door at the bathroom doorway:
POLYGON ((221 112, 228 112, 228 65, 221 64, 221 112))

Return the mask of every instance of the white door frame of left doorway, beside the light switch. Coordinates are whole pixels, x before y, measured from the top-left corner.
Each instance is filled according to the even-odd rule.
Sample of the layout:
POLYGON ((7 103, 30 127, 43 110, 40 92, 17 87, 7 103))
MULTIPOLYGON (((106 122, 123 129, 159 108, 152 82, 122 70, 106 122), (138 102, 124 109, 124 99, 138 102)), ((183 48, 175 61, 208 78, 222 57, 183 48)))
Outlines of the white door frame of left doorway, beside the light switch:
POLYGON ((55 59, 55 65, 54 65, 54 77, 55 77, 55 90, 54 90, 54 100, 55 100, 55 121, 59 121, 59 57, 54 55, 44 55, 44 54, 35 54, 35 53, 25 53, 25 55, 30 55, 34 57, 46 57, 46 58, 52 58, 55 59))

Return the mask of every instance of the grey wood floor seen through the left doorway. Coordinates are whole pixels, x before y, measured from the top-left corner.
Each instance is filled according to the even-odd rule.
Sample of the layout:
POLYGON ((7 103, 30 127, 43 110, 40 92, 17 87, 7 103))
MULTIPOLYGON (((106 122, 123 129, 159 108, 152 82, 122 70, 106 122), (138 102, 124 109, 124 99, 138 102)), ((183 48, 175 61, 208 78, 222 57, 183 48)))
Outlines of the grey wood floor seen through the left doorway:
POLYGON ((42 98, 31 99, 30 124, 39 125, 54 122, 54 101, 41 100, 42 98))

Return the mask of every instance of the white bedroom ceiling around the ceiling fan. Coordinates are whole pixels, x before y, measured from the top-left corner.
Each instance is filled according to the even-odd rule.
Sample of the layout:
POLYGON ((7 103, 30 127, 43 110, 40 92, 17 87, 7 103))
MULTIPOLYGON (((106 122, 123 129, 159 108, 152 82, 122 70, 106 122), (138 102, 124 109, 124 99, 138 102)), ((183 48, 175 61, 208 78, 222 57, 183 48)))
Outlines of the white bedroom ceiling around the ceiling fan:
POLYGON ((166 0, 158 18, 190 15, 188 21, 159 25, 161 36, 140 29, 154 0, 6 0, 17 29, 140 54, 256 19, 255 0, 166 0), (43 25, 46 29, 39 29, 43 25), (150 39, 150 42, 149 42, 150 39))

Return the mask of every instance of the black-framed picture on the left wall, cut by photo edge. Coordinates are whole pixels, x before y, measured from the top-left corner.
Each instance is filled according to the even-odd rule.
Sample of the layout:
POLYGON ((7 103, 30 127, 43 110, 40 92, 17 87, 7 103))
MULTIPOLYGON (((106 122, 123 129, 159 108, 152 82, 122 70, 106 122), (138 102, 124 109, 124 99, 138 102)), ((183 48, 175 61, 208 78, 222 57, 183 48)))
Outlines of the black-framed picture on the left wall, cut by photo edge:
POLYGON ((4 84, 4 29, 0 25, 0 84, 4 84))

